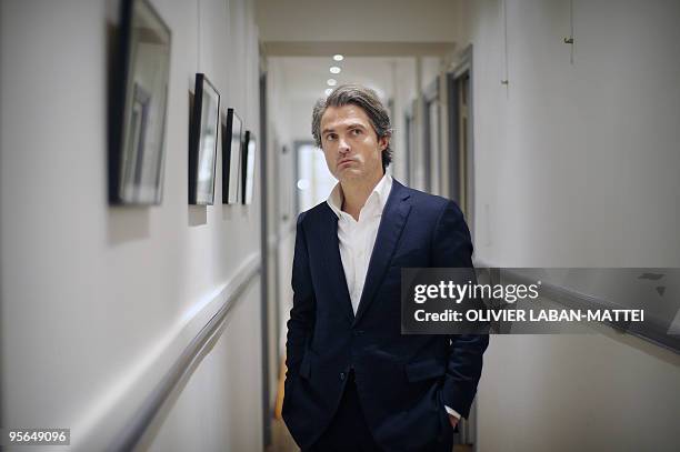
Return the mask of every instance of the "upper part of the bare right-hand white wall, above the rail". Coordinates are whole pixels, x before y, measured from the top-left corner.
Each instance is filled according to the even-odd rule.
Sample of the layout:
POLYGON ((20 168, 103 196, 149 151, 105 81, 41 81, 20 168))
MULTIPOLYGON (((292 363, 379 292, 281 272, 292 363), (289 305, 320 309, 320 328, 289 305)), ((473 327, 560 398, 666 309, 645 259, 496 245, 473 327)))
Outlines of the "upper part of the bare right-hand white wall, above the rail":
POLYGON ((476 2, 478 257, 506 265, 680 263, 677 1, 476 2), (487 212, 487 213, 486 213, 487 212))

